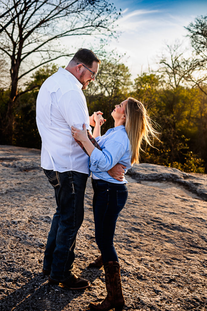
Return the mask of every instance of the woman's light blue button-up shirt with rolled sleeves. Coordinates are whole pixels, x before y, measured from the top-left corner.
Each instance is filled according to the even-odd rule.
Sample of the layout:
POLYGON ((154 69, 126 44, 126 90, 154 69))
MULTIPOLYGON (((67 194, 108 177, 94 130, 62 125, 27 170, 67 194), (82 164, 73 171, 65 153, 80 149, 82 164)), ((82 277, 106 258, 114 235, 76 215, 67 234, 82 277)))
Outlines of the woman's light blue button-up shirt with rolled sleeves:
POLYGON ((124 125, 110 128, 105 135, 96 137, 102 151, 95 148, 90 156, 90 170, 93 174, 111 183, 127 183, 127 180, 118 181, 111 177, 107 171, 115 164, 126 166, 125 173, 132 167, 130 142, 124 125))

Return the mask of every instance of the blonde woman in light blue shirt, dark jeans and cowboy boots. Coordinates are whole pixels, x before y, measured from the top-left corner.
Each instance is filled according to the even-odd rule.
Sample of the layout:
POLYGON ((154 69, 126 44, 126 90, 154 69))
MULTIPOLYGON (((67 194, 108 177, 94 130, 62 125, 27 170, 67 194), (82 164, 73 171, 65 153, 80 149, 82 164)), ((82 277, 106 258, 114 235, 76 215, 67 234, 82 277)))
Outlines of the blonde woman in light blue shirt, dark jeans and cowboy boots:
POLYGON ((139 163, 142 139, 151 145, 150 136, 156 137, 157 132, 151 126, 144 105, 132 97, 115 105, 111 115, 114 118, 115 127, 101 136, 101 115, 94 113, 96 125, 93 137, 96 137, 102 151, 95 148, 89 140, 85 125, 83 125, 83 130, 72 127, 71 132, 74 138, 83 144, 90 156, 94 190, 95 238, 101 251, 105 270, 107 296, 101 303, 90 303, 90 307, 94 310, 109 311, 115 308, 115 311, 119 311, 123 310, 125 301, 122 293, 119 259, 113 239, 116 221, 127 201, 128 188, 125 177, 123 181, 117 181, 107 171, 116 163, 120 163, 126 166, 126 173, 134 163, 139 163))

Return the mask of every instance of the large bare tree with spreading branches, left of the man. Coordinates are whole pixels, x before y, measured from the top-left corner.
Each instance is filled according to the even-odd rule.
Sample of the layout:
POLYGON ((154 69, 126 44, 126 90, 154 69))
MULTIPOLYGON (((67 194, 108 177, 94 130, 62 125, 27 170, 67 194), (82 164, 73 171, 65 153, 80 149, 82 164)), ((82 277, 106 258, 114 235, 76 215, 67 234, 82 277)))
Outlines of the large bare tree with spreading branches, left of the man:
POLYGON ((11 74, 4 134, 7 142, 12 143, 13 108, 21 95, 20 79, 48 62, 74 54, 72 49, 68 51, 60 45, 60 38, 112 36, 120 12, 107 0, 1 0, 0 3, 0 50, 10 61, 11 74))

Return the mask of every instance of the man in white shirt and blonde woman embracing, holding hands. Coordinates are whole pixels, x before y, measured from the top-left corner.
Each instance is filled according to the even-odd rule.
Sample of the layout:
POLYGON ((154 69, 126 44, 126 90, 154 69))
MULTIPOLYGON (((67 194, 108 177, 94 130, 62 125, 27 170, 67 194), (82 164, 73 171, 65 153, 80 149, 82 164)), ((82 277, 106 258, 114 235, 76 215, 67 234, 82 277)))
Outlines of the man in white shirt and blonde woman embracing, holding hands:
POLYGON ((90 286, 90 281, 72 272, 90 160, 95 238, 101 251, 101 257, 92 265, 103 264, 107 290, 106 298, 101 303, 90 303, 90 307, 118 311, 124 308, 125 301, 113 238, 128 197, 123 175, 133 163, 138 163, 142 139, 150 144, 149 136, 156 137, 156 131, 143 104, 130 97, 115 105, 111 113, 115 127, 101 136, 105 119, 100 111, 89 117, 82 92, 95 80, 99 64, 91 50, 79 49, 68 66, 59 68, 38 93, 41 166, 54 187, 57 204, 44 252, 43 274, 49 276, 51 284, 61 283, 69 289, 90 286), (90 125, 94 126, 93 137, 90 125))

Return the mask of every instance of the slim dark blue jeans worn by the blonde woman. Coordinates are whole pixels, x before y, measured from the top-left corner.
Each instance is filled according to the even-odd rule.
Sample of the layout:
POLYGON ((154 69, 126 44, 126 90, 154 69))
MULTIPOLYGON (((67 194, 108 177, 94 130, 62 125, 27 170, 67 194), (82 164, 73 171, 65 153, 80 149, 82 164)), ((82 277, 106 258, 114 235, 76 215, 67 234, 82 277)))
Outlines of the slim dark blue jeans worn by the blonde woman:
POLYGON ((127 201, 127 185, 92 179, 92 186, 95 239, 101 251, 103 263, 119 262, 114 247, 114 233, 119 213, 127 201))

